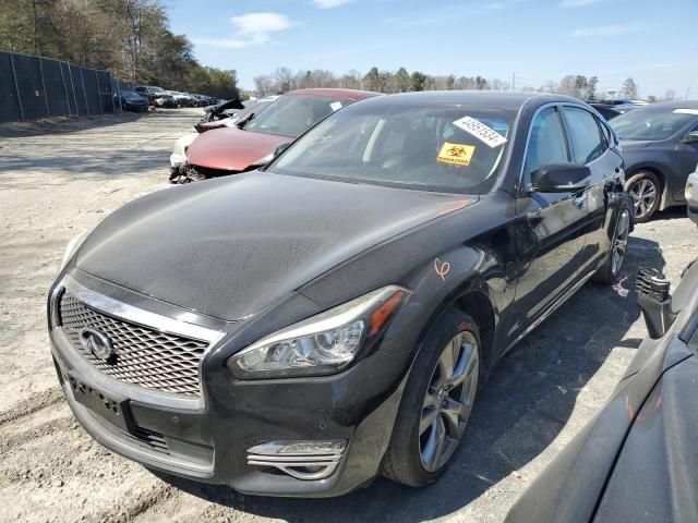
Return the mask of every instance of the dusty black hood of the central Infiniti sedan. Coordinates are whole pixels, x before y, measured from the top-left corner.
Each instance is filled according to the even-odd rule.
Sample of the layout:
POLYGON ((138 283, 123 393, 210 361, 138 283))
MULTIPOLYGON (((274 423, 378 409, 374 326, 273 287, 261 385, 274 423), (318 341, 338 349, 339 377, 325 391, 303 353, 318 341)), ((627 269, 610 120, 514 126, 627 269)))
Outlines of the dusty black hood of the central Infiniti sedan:
POLYGON ((125 205, 88 235, 75 263, 142 294, 237 320, 459 202, 254 171, 125 205))

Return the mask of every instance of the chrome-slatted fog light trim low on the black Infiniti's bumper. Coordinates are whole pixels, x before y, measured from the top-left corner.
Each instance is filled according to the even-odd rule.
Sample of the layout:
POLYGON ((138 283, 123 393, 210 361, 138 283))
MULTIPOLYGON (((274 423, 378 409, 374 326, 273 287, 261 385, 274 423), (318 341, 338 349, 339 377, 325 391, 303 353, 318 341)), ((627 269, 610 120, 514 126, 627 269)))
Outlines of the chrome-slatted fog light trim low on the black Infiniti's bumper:
POLYGON ((298 479, 324 479, 335 473, 347 441, 270 441, 248 450, 248 464, 270 466, 298 479))

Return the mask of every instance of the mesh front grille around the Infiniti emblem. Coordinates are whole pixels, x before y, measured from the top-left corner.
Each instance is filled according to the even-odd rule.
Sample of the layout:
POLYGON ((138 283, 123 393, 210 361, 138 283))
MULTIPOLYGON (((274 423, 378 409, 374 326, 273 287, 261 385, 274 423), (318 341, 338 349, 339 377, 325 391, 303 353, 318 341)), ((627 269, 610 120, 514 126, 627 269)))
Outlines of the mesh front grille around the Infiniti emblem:
POLYGON ((58 301, 58 324, 63 333, 75 351, 107 376, 165 392, 201 394, 198 365, 208 341, 165 333, 105 314, 73 296, 68 289, 58 301), (81 342, 84 328, 106 335, 116 357, 100 360, 87 350, 81 342))

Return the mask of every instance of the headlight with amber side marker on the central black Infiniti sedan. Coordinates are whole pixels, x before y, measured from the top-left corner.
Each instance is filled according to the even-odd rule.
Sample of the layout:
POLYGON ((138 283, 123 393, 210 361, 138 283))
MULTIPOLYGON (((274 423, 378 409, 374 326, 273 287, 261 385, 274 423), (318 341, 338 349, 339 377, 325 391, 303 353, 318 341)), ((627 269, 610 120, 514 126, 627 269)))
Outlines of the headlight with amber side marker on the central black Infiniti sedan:
POLYGON ((321 376, 349 365, 374 340, 409 292, 388 285, 300 321, 228 358, 241 379, 321 376))

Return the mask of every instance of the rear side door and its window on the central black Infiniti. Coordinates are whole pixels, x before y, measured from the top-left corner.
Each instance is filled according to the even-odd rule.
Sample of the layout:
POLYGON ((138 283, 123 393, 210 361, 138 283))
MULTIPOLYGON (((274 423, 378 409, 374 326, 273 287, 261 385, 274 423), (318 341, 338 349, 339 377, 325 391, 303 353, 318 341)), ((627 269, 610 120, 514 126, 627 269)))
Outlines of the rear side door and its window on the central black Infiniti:
POLYGON ((619 187, 623 158, 611 148, 613 136, 598 118, 581 106, 564 105, 563 115, 571 146, 571 160, 587 166, 591 171, 589 186, 583 191, 587 217, 585 265, 580 276, 595 267, 601 257, 611 248, 611 238, 615 226, 609 193, 619 187))

